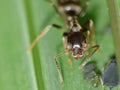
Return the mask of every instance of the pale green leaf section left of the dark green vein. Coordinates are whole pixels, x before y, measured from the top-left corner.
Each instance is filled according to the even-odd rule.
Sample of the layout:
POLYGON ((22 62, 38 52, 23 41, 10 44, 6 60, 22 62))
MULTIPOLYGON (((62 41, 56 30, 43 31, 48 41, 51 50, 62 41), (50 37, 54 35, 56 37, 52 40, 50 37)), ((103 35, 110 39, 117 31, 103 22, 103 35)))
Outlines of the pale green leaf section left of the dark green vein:
POLYGON ((0 1, 0 89, 36 90, 23 1, 0 1))

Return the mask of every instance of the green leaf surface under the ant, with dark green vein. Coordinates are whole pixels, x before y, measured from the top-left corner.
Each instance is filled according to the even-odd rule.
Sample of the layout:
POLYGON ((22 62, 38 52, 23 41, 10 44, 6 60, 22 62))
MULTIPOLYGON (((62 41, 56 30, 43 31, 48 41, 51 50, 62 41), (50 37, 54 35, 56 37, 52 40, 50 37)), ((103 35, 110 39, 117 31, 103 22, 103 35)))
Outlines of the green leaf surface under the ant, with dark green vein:
MULTIPOLYGON (((100 50, 93 60, 102 70, 114 53, 106 0, 90 0, 86 19, 94 21, 100 50)), ((45 0, 0 1, 0 90, 101 90, 101 86, 94 88, 83 80, 78 69, 81 60, 72 59, 70 68, 66 56, 59 58, 65 82, 63 88, 60 86, 53 57, 64 50, 64 31, 53 28, 31 53, 26 52, 35 37, 52 23, 65 24, 45 0)))

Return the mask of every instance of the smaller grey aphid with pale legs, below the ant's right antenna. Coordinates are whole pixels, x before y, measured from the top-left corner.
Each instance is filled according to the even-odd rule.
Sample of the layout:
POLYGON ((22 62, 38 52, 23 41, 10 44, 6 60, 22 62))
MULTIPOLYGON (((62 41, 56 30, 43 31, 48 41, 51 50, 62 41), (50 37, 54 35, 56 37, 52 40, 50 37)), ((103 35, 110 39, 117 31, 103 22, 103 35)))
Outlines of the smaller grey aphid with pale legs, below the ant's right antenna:
POLYGON ((98 87, 101 83, 100 70, 97 69, 96 63, 88 63, 83 68, 84 79, 91 83, 93 87, 98 87))

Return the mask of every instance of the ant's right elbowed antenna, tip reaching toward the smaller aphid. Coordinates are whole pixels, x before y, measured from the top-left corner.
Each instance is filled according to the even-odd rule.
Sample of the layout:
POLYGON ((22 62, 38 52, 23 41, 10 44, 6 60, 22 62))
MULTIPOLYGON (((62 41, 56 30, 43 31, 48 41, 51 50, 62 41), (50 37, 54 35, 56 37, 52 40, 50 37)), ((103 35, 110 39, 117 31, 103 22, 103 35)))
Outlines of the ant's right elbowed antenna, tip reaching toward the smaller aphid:
POLYGON ((94 45, 90 47, 88 50, 90 50, 91 48, 94 48, 94 50, 92 51, 91 54, 88 55, 87 59, 80 65, 79 67, 80 69, 83 68, 91 60, 91 57, 93 56, 93 54, 99 49, 99 45, 94 45))

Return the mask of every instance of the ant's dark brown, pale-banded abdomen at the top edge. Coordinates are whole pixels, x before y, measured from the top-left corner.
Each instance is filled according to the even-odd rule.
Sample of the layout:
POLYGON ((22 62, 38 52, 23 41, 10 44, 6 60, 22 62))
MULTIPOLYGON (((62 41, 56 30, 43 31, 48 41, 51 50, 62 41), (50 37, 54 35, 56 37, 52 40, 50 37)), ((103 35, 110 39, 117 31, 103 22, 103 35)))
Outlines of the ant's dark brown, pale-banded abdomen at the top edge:
POLYGON ((77 16, 81 12, 80 0, 59 0, 59 11, 67 16, 77 16))

